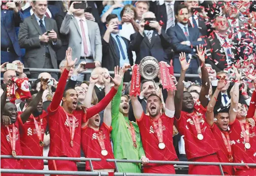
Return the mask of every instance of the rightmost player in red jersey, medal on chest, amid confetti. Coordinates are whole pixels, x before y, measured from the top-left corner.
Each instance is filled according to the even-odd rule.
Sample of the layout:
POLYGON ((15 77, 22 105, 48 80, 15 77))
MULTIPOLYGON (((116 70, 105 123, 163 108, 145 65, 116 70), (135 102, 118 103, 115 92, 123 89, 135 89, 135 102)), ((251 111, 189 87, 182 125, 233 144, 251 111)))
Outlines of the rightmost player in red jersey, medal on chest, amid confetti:
MULTIPOLYGON (((237 84, 237 89, 239 83, 237 84)), ((234 88, 235 89, 235 88, 234 88)), ((236 116, 230 116, 230 140, 233 149, 233 158, 235 163, 256 163, 256 128, 246 121, 246 110, 241 103, 238 103, 239 94, 233 94, 235 97, 236 116)), ((255 100, 255 91, 252 94, 252 100, 255 100)), ((254 109, 254 101, 250 103, 250 109, 254 109)), ((250 113, 251 114, 251 113, 250 113)), ((254 122, 255 124, 255 122, 254 122)), ((256 175, 256 167, 234 166, 235 175, 256 175)))

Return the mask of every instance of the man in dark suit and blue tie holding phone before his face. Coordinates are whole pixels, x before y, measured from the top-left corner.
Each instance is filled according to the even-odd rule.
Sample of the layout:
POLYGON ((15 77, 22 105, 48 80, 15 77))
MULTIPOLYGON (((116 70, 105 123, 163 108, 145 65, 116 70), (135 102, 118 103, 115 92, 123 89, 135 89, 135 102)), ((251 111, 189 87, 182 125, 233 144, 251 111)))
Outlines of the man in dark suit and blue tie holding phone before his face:
MULTIPOLYGON (((130 48, 130 41, 119 34, 119 20, 116 14, 110 14, 106 19, 107 30, 102 39, 102 66, 114 71, 116 65, 123 67, 124 64, 133 65, 133 54, 130 48)), ((129 82, 131 76, 126 72, 124 82, 129 82)))

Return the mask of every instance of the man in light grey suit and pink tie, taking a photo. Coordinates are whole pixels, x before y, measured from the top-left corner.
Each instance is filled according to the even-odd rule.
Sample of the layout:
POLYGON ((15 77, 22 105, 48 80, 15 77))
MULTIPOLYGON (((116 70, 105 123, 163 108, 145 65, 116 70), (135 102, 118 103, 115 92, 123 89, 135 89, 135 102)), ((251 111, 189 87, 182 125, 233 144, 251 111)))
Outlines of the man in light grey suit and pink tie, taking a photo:
MULTIPOLYGON (((60 32, 66 35, 69 34, 72 58, 77 58, 76 67, 82 61, 94 62, 96 67, 101 66, 102 42, 99 26, 93 21, 86 20, 84 9, 74 9, 74 4, 81 3, 81 1, 71 3, 60 27, 60 32)), ((79 74, 78 81, 83 80, 84 75, 79 74)))

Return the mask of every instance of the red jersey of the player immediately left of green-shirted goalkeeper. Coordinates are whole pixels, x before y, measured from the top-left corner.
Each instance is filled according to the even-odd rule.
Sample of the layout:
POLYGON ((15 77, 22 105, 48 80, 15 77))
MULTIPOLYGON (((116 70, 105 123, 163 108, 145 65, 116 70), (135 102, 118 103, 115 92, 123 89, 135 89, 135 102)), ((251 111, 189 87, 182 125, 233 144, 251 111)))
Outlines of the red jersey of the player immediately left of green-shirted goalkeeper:
MULTIPOLYGON (((84 156, 86 158, 101 158, 101 161, 92 161, 93 169, 115 169, 113 162, 106 161, 106 159, 114 159, 114 154, 110 143, 111 130, 112 127, 109 128, 105 123, 103 123, 99 129, 99 131, 103 132, 105 149, 108 152, 107 156, 103 156, 101 154, 102 149, 97 138, 99 131, 96 131, 88 126, 82 128, 81 147, 84 152, 84 156)), ((89 161, 86 161, 85 166, 85 170, 90 170, 89 161)))

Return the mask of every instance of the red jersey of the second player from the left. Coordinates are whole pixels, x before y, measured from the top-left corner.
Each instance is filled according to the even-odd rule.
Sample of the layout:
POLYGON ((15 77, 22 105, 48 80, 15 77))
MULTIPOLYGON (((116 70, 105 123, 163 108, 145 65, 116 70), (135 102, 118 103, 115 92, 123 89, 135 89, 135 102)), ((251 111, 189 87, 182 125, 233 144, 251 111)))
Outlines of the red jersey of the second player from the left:
MULTIPOLYGON (((43 156, 44 147, 39 145, 39 138, 37 136, 37 130, 34 123, 33 115, 23 124, 20 115, 23 112, 19 112, 19 130, 20 130, 20 146, 24 156, 43 156)), ((44 141, 44 133, 47 126, 48 114, 43 111, 39 117, 35 117, 38 124, 41 124, 41 136, 44 141)), ((44 161, 36 159, 24 159, 24 169, 43 169, 44 161)))

